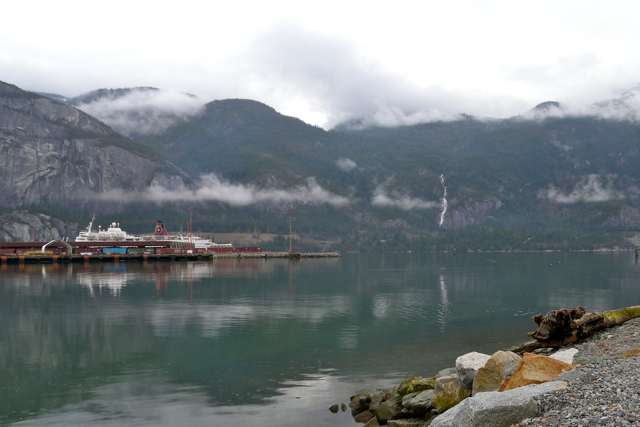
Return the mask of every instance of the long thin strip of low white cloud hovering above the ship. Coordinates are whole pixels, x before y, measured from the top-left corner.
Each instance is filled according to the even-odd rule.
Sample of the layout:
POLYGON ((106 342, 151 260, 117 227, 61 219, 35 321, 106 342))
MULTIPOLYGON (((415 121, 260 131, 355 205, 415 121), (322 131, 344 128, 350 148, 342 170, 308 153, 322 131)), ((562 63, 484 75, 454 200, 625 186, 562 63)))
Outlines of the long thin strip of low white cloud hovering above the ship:
POLYGON ((95 198, 120 203, 222 202, 232 206, 297 202, 341 207, 350 203, 347 197, 322 188, 315 178, 307 178, 306 185, 289 189, 261 189, 252 185, 234 184, 214 174, 201 176, 195 188, 178 185, 173 189, 167 189, 161 185, 152 185, 142 191, 114 189, 96 195, 95 198))

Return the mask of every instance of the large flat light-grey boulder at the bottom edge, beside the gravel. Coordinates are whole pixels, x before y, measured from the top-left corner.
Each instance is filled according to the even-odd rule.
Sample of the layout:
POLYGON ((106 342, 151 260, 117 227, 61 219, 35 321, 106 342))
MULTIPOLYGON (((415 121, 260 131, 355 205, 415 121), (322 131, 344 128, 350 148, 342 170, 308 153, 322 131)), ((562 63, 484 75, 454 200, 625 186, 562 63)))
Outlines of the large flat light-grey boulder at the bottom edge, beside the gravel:
POLYGON ((509 427, 538 415, 533 397, 566 388, 567 383, 554 381, 503 393, 478 393, 439 415, 431 427, 509 427))

